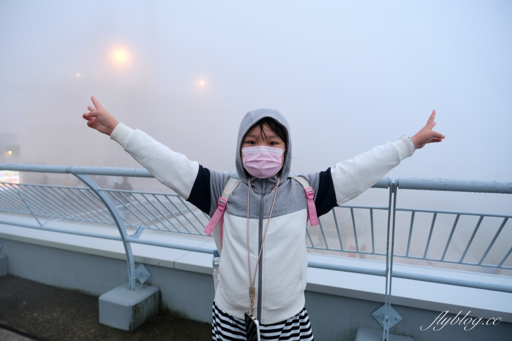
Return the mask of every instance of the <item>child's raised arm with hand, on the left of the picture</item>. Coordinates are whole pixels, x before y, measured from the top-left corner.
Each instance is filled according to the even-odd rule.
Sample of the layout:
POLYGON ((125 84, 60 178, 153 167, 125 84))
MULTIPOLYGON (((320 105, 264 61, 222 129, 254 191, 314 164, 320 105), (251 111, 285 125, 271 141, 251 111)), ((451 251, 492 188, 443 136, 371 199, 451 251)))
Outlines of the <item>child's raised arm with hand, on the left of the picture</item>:
MULTIPOLYGON (((88 106, 89 112, 82 115, 87 120, 87 125, 100 133, 109 135, 158 181, 173 189, 184 199, 188 200, 200 168, 202 174, 208 173, 209 178, 209 172, 199 163, 188 160, 183 154, 173 152, 144 132, 119 123, 103 109, 94 96, 91 100, 94 107, 88 106)), ((202 186, 207 186, 209 190, 209 184, 206 182, 202 186)), ((196 188, 196 190, 202 189, 196 188)), ((209 210, 209 203, 207 209, 209 210)))

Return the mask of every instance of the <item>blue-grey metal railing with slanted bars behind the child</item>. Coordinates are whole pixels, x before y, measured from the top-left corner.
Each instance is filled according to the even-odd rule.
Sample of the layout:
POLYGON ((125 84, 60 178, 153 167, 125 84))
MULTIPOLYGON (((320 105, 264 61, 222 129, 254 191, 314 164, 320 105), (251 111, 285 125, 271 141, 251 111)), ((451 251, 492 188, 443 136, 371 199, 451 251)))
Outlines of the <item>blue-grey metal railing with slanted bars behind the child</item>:
MULTIPOLYGON (((89 177, 90 175, 101 175, 153 178, 151 173, 146 171, 146 169, 0 164, 0 170, 73 174, 80 179, 85 186, 0 183, 0 212, 30 215, 35 219, 36 224, 4 220, 0 220, 0 223, 89 237, 120 240, 123 242, 126 252, 130 279, 129 285, 132 289, 135 289, 135 269, 130 246, 131 243, 164 246, 206 253, 213 252, 213 249, 208 248, 170 244, 139 238, 144 229, 205 236, 203 231, 209 217, 194 205, 184 201, 177 194, 100 188, 100 186, 89 177), (113 225, 117 226, 120 236, 47 226, 49 221, 55 220, 113 225), (136 230, 132 235, 128 235, 126 227, 132 227, 136 230)), ((373 187, 389 190, 388 206, 337 206, 333 208, 329 214, 319 219, 320 223, 318 226, 311 227, 308 225, 306 241, 308 249, 312 252, 349 252, 349 256, 352 257, 357 254, 359 257, 371 256, 386 258, 386 269, 369 269, 364 267, 309 262, 309 267, 350 271, 378 275, 386 278, 386 321, 384 323, 383 338, 387 338, 389 333, 389 328, 386 326, 389 325, 387 318, 391 305, 393 277, 512 293, 511 286, 441 278, 438 276, 404 271, 393 271, 394 257, 409 260, 435 261, 446 264, 472 265, 489 269, 512 269, 512 266, 505 264, 512 253, 512 243, 510 240, 506 241, 508 249, 502 252, 499 258, 494 257, 494 262, 486 261, 489 252, 494 250, 493 247, 496 246, 496 242, 504 239, 503 237, 500 238, 500 236, 503 234, 503 230, 509 218, 512 218, 511 214, 485 214, 396 206, 398 189, 512 194, 512 182, 382 178, 373 187), (403 253, 395 252, 395 242, 397 241, 395 236, 397 212, 401 215, 408 215, 406 218, 409 229, 407 236, 403 236, 407 237, 407 243, 402 245, 404 249, 403 253), (374 218, 376 215, 380 216, 380 220, 386 221, 386 226, 375 226, 374 218), (415 229, 414 227, 415 223, 418 221, 419 215, 422 215, 423 222, 425 221, 425 215, 429 216, 430 228, 428 229, 428 237, 426 238, 424 246, 413 245, 412 243, 414 231, 418 230, 418 228, 415 229), (450 233, 444 241, 439 237, 433 238, 434 231, 437 230, 436 226, 439 225, 437 223, 438 218, 441 216, 452 218, 452 221, 450 221, 451 227, 448 228, 450 233), (356 221, 364 220, 363 217, 367 219, 366 228, 365 226, 361 227, 356 224, 356 221), (467 218, 472 217, 476 219, 476 222, 474 222, 474 227, 471 229, 470 238, 463 244, 458 241, 458 245, 454 246, 454 244, 457 244, 454 243, 454 236, 456 231, 458 231, 457 227, 460 226, 461 220, 467 220, 467 218), (482 244, 480 248, 484 250, 483 253, 479 257, 476 257, 475 252, 473 252, 471 257, 469 257, 470 248, 474 245, 475 237, 479 229, 481 229, 482 223, 492 219, 499 219, 493 238, 485 245, 482 244, 482 241, 479 241, 479 243, 482 244), (379 233, 380 238, 376 236, 379 233), (385 245, 382 245, 383 243, 380 242, 383 240, 386 240, 385 245), (371 244, 371 246, 367 246, 365 241, 367 244, 371 244), (432 253, 432 245, 435 245, 439 257, 429 255, 432 253), (417 252, 418 250, 420 250, 419 253, 417 252)), ((441 226, 440 229, 445 230, 446 228, 445 226, 441 226)), ((402 236, 400 235, 400 237, 402 236)))

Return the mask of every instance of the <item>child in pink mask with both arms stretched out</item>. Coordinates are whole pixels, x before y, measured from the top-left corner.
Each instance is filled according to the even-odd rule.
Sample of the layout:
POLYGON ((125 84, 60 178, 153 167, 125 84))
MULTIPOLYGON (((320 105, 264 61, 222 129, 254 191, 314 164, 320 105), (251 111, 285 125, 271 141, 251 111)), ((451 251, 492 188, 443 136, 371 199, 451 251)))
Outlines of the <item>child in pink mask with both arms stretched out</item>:
MULTIPOLYGON (((210 171, 118 123, 91 99, 94 108, 83 114, 88 126, 110 135, 161 183, 214 215, 229 173, 210 171)), ((245 312, 259 320, 262 338, 313 339, 304 307, 308 218, 314 219, 315 209, 321 216, 357 197, 415 149, 440 142, 444 135, 432 131, 434 118, 435 111, 411 138, 403 136, 324 172, 303 175, 314 193, 314 207, 308 209, 305 186, 288 178, 292 146, 286 119, 270 109, 244 116, 235 156, 241 183, 226 205, 222 240, 219 225, 213 230, 222 260, 213 305, 214 340, 244 340, 245 312)))

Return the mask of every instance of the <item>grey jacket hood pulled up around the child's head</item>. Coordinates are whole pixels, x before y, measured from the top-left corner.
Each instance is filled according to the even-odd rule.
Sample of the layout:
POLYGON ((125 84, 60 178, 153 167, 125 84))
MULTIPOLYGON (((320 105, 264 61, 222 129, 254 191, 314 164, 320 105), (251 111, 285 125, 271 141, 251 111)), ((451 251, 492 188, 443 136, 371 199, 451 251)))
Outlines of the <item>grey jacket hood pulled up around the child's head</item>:
MULTIPOLYGON (((241 149, 242 149, 242 140, 249 131, 250 127, 253 126, 256 122, 261 120, 264 117, 271 117, 274 120, 278 121, 281 125, 283 125, 286 129, 286 137, 288 141, 286 141, 286 151, 285 151, 285 163, 283 164, 283 167, 281 168, 281 171, 278 173, 278 175, 281 176, 282 180, 286 180, 288 177, 288 174, 290 174, 290 168, 291 168, 291 136, 290 136, 290 127, 288 125, 288 121, 286 118, 277 110, 273 109, 256 109, 249 111, 247 114, 245 114, 244 118, 242 119, 242 122, 240 122, 240 129, 238 131, 238 139, 237 139, 237 151, 236 151, 236 166, 237 166, 237 173, 239 178, 247 183, 248 177, 250 176, 247 171, 245 171, 245 168, 242 164, 242 157, 241 157, 241 149)), ((270 178, 273 180, 272 182, 277 180, 276 175, 270 178)), ((252 178, 251 178, 252 181, 252 178)), ((283 183, 284 181, 281 181, 283 183)))

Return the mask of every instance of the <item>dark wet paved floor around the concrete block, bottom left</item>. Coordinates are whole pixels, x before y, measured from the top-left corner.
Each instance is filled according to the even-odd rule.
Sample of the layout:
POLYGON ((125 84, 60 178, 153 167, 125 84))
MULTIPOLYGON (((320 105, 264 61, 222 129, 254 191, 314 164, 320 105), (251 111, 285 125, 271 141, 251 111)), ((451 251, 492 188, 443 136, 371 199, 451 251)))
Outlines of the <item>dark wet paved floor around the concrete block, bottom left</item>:
POLYGON ((136 330, 126 332, 98 323, 98 297, 12 275, 0 277, 0 341, 29 341, 31 338, 42 341, 209 341, 211 325, 161 314, 136 330), (2 329, 2 325, 6 328, 2 329))

